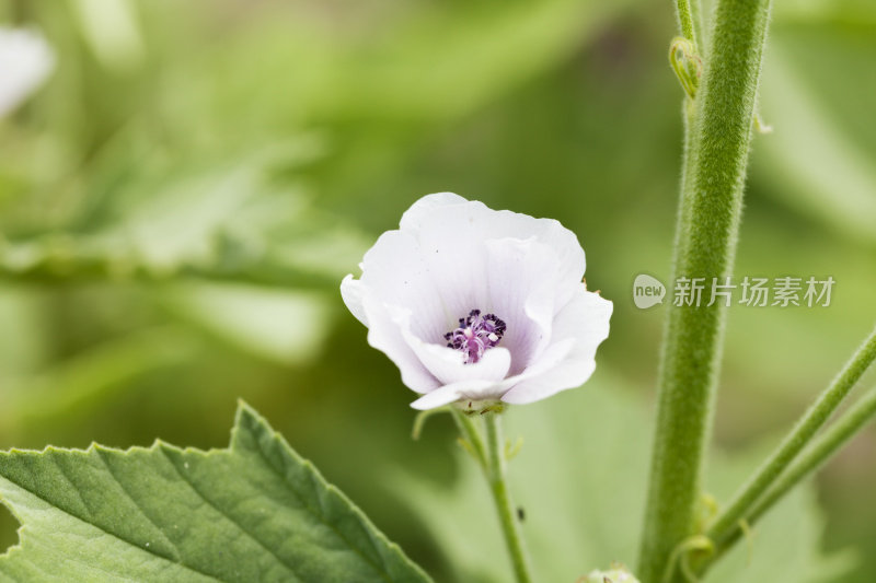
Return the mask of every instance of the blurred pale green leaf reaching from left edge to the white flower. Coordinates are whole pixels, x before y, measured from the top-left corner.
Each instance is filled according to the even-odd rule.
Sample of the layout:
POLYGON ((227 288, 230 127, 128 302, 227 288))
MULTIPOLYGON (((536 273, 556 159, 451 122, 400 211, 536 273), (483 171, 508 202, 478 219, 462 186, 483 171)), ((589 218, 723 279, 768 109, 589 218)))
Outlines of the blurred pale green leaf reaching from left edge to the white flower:
POLYGON ((82 225, 0 240, 0 272, 37 281, 198 276, 335 288, 370 237, 315 209, 301 188, 273 184, 270 170, 293 155, 267 148, 170 174, 159 164, 92 202, 82 225))

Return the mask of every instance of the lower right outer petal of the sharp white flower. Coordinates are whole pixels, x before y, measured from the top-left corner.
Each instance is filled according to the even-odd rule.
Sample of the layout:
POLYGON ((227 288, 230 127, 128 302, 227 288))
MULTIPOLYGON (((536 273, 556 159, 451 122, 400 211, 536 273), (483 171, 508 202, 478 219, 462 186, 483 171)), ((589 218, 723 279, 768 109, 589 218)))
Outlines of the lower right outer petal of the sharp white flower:
POLYGON ((613 307, 611 302, 580 285, 554 319, 552 345, 542 355, 548 360, 533 363, 502 400, 532 403, 584 384, 596 369, 597 347, 608 338, 613 307), (554 362, 556 355, 565 350, 564 358, 554 362))

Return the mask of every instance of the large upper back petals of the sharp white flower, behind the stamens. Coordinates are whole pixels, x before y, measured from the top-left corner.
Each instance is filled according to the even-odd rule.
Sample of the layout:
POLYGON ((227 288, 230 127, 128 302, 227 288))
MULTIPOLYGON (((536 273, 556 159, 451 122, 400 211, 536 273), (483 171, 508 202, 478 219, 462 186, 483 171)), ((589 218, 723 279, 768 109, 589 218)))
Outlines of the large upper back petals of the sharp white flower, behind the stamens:
MULTIPOLYGON (((557 221, 493 211, 451 193, 423 197, 404 213, 399 231, 383 233, 362 260, 361 281, 384 302, 410 308, 412 330, 422 340, 442 343, 443 334, 454 328, 460 317, 474 308, 491 311, 494 293, 509 287, 507 277, 497 278, 496 285, 483 284, 489 273, 496 275, 508 263, 498 261, 506 243, 497 247, 493 242, 533 237, 542 245, 535 260, 552 257, 549 265, 556 272, 550 277, 548 269, 533 266, 539 271, 535 283, 550 279, 553 290, 552 302, 538 303, 552 304, 556 311, 572 298, 584 273, 584 250, 575 234, 557 221)), ((526 282, 522 275, 517 276, 515 284, 526 282)), ((526 290, 533 285, 527 284, 526 290)), ((543 293, 548 293, 546 285, 543 293)), ((493 311, 503 318, 508 315, 507 310, 504 315, 493 311)), ((546 331, 542 326, 544 339, 546 331)), ((529 338, 521 362, 540 348, 529 338)), ((515 362, 518 372, 526 365, 518 365, 520 360, 515 362)))

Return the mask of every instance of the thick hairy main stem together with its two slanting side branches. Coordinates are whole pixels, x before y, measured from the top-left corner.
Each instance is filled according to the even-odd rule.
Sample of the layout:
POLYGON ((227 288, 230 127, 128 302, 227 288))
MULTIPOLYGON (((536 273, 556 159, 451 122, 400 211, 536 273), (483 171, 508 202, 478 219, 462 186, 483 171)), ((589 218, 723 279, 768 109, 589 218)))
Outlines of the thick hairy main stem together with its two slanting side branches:
MULTIPOLYGON (((711 46, 704 54, 698 45, 702 42, 699 2, 677 2, 683 38, 673 40, 670 55, 676 58, 672 65, 687 98, 673 279, 722 278, 731 272, 770 3, 718 0, 711 46), (700 59, 702 79, 690 67, 699 67, 700 59)), ((723 326, 719 304, 669 308, 638 568, 642 581, 680 583, 702 574, 748 525, 823 464, 876 411, 876 396, 868 395, 816 438, 876 360, 874 331, 707 532, 698 532, 696 509, 714 416, 723 326), (691 569, 684 549, 698 538, 704 541, 702 548, 710 550, 691 569)))

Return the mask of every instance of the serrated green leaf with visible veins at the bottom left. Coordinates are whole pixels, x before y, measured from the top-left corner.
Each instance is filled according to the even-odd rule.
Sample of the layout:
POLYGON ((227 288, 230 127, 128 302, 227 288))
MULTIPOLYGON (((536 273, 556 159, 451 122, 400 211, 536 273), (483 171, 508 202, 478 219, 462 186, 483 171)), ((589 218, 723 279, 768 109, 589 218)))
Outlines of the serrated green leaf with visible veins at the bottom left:
POLYGON ((227 450, 0 453, 0 495, 3 583, 429 581, 245 405, 227 450))

